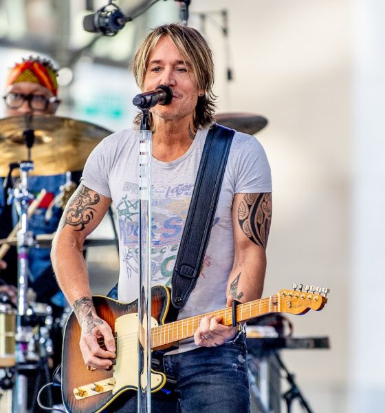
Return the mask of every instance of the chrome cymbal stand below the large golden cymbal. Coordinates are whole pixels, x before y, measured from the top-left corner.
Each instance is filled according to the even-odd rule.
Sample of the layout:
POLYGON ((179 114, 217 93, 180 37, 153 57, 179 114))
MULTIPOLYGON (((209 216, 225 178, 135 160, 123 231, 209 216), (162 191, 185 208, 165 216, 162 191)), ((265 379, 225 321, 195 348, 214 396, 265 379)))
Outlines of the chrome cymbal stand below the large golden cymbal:
POLYGON ((20 184, 12 191, 11 199, 17 203, 21 212, 20 229, 17 233, 17 333, 16 333, 16 380, 12 403, 12 413, 27 412, 27 376, 25 370, 31 370, 36 362, 28 361, 28 342, 32 337, 32 328, 28 326, 28 251, 34 244, 34 237, 28 231, 28 206, 34 198, 28 192, 28 172, 34 168, 32 161, 20 164, 20 184))

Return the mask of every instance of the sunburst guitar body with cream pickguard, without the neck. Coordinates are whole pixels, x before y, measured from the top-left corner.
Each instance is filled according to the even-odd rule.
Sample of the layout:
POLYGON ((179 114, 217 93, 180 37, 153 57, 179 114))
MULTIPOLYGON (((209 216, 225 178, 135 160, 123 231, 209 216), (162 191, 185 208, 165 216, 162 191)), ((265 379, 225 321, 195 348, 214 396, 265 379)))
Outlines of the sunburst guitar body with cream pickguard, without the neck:
MULTIPOLYGON (((98 316, 104 319, 117 335, 116 359, 113 370, 87 370, 79 348, 80 326, 74 312, 65 326, 62 354, 62 395, 65 408, 72 413, 101 412, 115 398, 126 390, 137 390, 137 300, 124 304, 107 297, 93 297, 98 316), (124 317, 122 317, 124 316, 124 317), (118 332, 115 331, 115 321, 118 332), (121 325, 121 327, 120 327, 121 325), (122 328, 120 333, 119 328, 122 328), (123 332, 124 331, 124 332, 123 332), (126 336, 126 337, 124 337, 126 336), (115 381, 110 386, 109 381, 115 381), (104 391, 89 390, 89 385, 102 383, 104 391), (85 390, 87 396, 76 397, 74 389, 85 390)), ((170 293, 167 288, 155 286, 152 289, 152 326, 164 324, 170 306, 170 293)), ((162 373, 153 371, 151 391, 161 389, 166 382, 162 373)))

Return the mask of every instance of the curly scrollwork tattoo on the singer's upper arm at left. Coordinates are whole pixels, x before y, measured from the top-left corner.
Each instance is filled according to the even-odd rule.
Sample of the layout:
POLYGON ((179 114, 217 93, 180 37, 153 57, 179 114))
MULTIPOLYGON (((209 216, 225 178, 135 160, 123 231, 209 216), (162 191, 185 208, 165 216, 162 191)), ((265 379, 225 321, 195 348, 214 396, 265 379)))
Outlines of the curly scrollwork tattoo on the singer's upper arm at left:
POLYGON ((80 225, 80 228, 74 231, 83 231, 86 224, 94 218, 94 211, 96 210, 92 208, 92 205, 99 202, 100 196, 97 193, 91 194, 90 192, 89 188, 84 185, 80 186, 66 210, 64 225, 80 225))

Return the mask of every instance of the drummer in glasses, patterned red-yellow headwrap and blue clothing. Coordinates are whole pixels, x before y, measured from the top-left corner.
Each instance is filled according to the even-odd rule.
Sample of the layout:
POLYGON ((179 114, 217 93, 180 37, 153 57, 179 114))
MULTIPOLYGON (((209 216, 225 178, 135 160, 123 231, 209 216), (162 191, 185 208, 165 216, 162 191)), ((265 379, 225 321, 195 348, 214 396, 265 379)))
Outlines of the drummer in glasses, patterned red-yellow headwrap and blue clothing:
MULTIPOLYGON (((58 70, 51 61, 40 57, 30 56, 23 59, 10 69, 5 82, 4 103, 6 116, 19 116, 26 114, 55 114, 61 100, 58 98, 58 70)), ((26 152, 27 153, 27 152, 26 152)), ((39 156, 39 147, 32 150, 32 161, 39 156)), ((17 159, 14 160, 15 162, 17 159)), ((54 176, 30 176, 28 178, 28 190, 36 197, 42 189, 47 191, 39 208, 29 220, 29 229, 38 234, 50 234, 56 231, 61 218, 62 209, 55 207, 54 199, 65 184, 65 171, 61 175, 54 176), (47 209, 52 210, 50 217, 47 209)), ((72 180, 80 179, 80 171, 72 174, 72 180)), ((0 178, 1 183, 3 178, 0 178)), ((15 209, 5 204, 5 191, 0 190, 0 233, 1 237, 7 237, 12 226, 16 224, 18 217, 15 209)), ((11 248, 12 250, 12 248, 11 248)), ((33 288, 37 302, 51 304, 54 309, 65 306, 63 294, 59 291, 50 262, 50 248, 30 248, 29 253, 29 286, 33 288)), ((17 285, 17 260, 12 251, 5 255, 0 262, 0 277, 8 284, 17 285), (1 271, 1 268, 6 268, 1 271)), ((3 287, 4 289, 4 287, 3 287)), ((1 288, 0 288, 1 292, 1 288)), ((12 291, 9 291, 12 295, 12 291)), ((14 294, 14 290, 13 290, 14 294)))

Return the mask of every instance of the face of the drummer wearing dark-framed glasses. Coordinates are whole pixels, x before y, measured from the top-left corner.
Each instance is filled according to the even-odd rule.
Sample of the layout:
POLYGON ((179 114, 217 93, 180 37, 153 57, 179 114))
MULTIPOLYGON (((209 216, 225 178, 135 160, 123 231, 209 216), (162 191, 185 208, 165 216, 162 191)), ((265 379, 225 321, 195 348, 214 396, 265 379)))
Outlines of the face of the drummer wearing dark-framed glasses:
POLYGON ((5 89, 4 96, 10 93, 12 94, 12 96, 10 96, 10 104, 12 107, 5 105, 6 116, 17 116, 31 113, 37 115, 54 114, 58 107, 58 103, 47 103, 50 98, 54 97, 54 94, 50 91, 50 89, 39 85, 39 83, 14 83, 5 89), (32 100, 23 100, 23 96, 29 96, 30 99, 33 98, 34 102, 32 102, 32 100), (19 106, 21 101, 21 106, 19 106))

